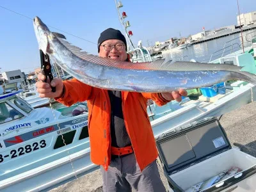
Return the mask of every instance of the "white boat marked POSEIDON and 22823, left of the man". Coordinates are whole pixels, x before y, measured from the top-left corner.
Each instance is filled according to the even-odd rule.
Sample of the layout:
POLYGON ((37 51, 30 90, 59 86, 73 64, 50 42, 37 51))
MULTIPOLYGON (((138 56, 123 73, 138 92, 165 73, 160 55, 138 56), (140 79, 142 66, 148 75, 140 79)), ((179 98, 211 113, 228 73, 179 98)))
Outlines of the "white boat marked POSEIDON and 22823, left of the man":
POLYGON ((96 167, 87 111, 34 109, 20 92, 0 95, 0 191, 40 191, 96 167))

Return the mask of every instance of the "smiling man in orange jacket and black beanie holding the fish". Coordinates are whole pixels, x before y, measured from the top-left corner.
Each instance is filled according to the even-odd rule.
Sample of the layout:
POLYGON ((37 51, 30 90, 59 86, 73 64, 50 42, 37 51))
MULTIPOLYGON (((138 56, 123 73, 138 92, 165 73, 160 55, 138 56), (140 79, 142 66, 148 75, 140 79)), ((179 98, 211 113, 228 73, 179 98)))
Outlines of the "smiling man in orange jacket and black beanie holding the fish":
MULTIPOLYGON (((100 34, 98 52, 102 58, 128 61, 127 43, 118 30, 109 28, 100 34)), ((45 76, 38 76, 44 80, 45 76)), ((156 141, 147 115, 147 100, 159 106, 181 100, 185 90, 172 93, 136 93, 102 90, 77 79, 37 82, 40 97, 54 97, 71 106, 88 102, 88 127, 91 159, 101 166, 104 191, 165 191, 157 169, 156 141)))

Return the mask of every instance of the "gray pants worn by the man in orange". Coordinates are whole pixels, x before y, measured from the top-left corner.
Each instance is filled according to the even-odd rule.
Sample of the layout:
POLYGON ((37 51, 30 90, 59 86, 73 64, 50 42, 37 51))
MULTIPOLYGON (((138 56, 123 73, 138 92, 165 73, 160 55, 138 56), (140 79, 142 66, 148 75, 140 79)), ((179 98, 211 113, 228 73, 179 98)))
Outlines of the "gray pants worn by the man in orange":
POLYGON ((134 154, 116 157, 108 171, 101 166, 104 192, 166 192, 160 179, 156 161, 148 164, 141 172, 134 154))

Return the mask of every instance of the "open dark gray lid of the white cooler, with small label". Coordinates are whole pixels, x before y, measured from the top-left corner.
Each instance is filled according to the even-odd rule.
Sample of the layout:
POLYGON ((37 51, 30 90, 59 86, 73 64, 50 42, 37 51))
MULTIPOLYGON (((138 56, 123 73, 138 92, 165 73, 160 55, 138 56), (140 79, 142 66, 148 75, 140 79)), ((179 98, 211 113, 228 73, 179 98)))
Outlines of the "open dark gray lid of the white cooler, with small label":
POLYGON ((227 134, 214 117, 164 133, 156 138, 156 144, 164 169, 170 174, 231 148, 227 134))

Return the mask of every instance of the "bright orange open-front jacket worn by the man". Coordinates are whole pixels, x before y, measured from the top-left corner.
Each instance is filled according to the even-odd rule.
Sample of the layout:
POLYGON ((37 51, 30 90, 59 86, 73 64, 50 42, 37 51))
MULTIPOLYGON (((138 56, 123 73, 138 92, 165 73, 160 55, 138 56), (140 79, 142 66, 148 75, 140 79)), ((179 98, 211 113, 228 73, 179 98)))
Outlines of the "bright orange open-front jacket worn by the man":
MULTIPOLYGON (((108 170, 111 160, 108 90, 89 86, 77 79, 64 81, 64 86, 65 95, 56 99, 58 102, 71 106, 76 102, 87 100, 91 160, 95 164, 103 165, 105 170, 108 170)), ((158 156, 156 141, 147 114, 148 99, 153 99, 159 106, 168 102, 159 93, 122 92, 124 123, 141 170, 158 156)))

